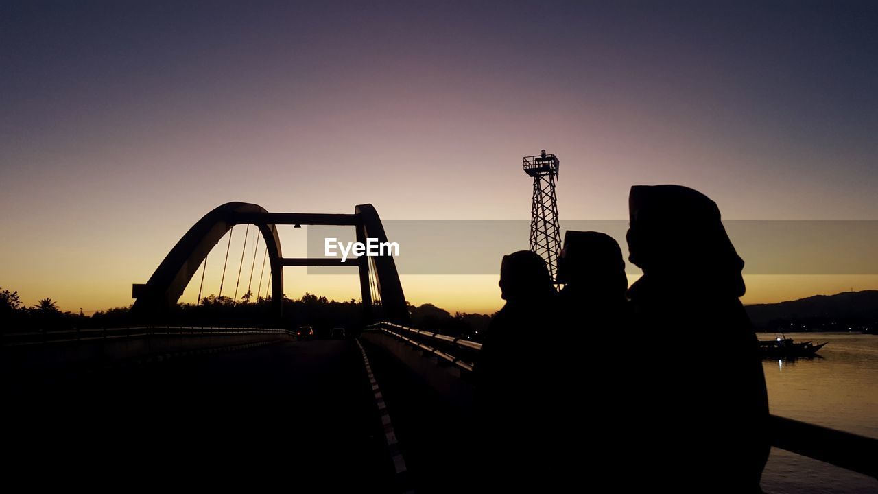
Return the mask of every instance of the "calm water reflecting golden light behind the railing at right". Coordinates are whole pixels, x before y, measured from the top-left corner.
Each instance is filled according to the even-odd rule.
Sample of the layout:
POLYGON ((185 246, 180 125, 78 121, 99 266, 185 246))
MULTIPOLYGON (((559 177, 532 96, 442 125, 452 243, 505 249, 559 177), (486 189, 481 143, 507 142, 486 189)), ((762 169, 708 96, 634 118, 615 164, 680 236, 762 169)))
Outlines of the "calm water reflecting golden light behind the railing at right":
MULTIPOLYGON (((790 333, 795 341, 828 341, 823 358, 765 360, 771 412, 878 439, 878 336, 790 333)), ((759 334, 773 339, 772 333, 759 334)), ((876 493, 878 480, 777 448, 762 476, 768 494, 876 493)))

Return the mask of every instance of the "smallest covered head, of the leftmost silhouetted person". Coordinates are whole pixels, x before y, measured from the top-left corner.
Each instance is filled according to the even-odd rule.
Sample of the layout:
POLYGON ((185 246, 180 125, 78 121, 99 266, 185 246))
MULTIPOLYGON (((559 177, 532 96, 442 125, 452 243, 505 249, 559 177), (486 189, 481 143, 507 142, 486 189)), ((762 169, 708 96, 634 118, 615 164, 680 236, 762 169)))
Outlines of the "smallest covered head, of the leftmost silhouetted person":
POLYGON ((545 261, 532 251, 503 256, 500 292, 505 301, 542 300, 556 293, 545 261))

